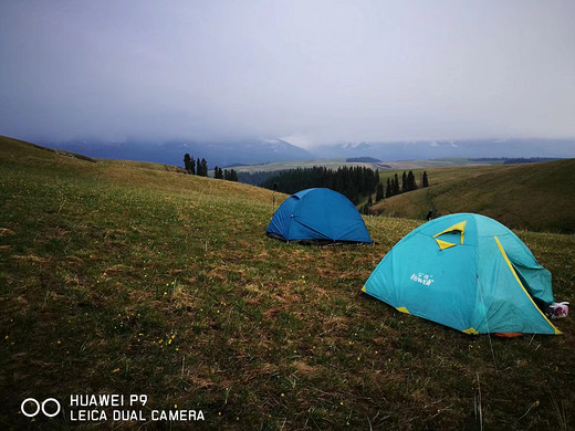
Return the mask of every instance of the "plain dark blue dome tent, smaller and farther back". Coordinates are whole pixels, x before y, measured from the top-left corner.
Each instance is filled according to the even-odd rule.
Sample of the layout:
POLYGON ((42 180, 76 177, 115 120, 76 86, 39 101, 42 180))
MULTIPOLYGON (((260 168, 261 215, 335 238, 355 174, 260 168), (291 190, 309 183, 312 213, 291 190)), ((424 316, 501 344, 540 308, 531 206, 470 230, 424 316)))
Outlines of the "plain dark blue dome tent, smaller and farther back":
POLYGON ((302 243, 372 243, 362 216, 343 195, 306 189, 283 201, 273 214, 268 236, 302 243))

